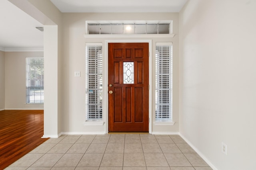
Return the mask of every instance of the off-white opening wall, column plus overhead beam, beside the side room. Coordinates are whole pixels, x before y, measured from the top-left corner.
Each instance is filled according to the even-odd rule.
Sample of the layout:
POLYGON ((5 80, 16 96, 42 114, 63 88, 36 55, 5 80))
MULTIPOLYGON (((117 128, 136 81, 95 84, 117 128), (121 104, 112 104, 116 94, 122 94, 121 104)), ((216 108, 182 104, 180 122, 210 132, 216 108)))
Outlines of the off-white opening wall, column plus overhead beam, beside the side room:
POLYGON ((62 13, 50 0, 10 1, 44 24, 44 137, 58 137, 62 123, 62 13))

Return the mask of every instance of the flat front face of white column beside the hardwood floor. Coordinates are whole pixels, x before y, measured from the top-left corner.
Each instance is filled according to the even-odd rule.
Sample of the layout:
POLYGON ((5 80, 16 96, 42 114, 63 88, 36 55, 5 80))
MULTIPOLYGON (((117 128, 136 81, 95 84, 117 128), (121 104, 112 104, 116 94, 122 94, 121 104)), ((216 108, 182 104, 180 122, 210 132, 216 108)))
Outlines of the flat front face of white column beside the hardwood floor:
POLYGON ((44 25, 44 137, 58 137, 58 26, 44 25))

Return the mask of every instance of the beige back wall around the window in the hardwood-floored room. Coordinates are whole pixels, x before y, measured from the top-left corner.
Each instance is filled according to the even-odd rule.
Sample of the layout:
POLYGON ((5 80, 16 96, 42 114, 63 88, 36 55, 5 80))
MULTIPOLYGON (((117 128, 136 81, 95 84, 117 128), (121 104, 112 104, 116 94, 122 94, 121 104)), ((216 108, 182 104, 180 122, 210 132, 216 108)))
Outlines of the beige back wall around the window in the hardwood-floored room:
POLYGON ((5 109, 44 109, 26 104, 26 57, 44 56, 43 52, 5 52, 5 109))

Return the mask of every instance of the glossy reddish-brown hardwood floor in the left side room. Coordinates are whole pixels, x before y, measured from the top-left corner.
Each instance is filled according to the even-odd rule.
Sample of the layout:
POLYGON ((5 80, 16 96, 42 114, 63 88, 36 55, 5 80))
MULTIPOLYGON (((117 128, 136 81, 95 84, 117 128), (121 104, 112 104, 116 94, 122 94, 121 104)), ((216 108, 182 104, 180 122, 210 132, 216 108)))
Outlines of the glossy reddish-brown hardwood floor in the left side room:
POLYGON ((43 133, 43 110, 0 111, 0 170, 48 140, 43 133))

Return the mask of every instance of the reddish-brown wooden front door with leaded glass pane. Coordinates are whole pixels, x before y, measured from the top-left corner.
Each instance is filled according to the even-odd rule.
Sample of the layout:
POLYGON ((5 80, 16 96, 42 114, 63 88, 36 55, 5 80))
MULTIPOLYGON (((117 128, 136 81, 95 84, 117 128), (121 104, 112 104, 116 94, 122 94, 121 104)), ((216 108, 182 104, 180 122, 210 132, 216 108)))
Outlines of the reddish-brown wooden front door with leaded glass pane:
POLYGON ((148 132, 148 43, 108 43, 108 131, 148 132))

